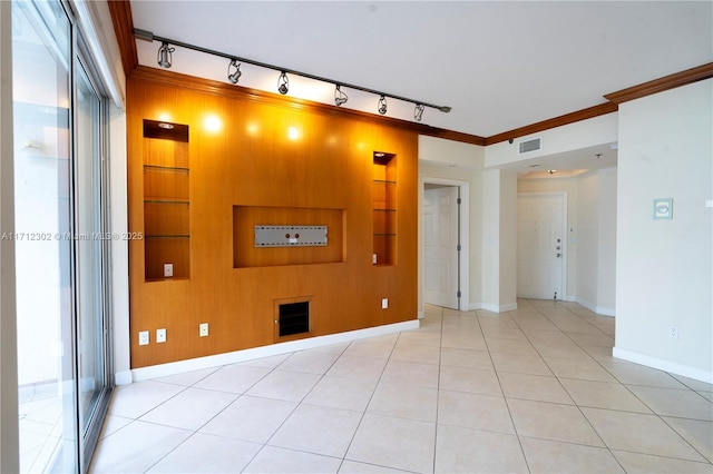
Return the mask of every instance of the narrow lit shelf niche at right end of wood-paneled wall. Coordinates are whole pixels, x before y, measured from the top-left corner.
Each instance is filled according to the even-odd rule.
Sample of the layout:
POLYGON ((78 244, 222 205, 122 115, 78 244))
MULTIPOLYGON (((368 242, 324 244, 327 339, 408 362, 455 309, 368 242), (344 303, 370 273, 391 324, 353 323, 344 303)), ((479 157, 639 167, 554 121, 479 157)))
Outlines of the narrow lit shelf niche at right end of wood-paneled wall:
POLYGON ((373 255, 377 266, 397 263, 397 160, 394 154, 373 154, 373 255))

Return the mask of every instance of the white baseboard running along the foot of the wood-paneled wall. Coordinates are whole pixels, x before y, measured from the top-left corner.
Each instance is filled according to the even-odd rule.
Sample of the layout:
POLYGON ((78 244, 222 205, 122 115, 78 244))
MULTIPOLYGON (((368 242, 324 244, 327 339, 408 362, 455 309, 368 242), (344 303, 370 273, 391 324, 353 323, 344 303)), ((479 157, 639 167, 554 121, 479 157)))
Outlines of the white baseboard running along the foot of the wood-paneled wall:
POLYGON ((387 324, 383 326, 368 327, 365 329, 350 330, 346 333, 290 340, 287 343, 272 344, 270 346, 254 347, 251 349, 235 350, 232 353, 216 354, 212 356, 191 358, 187 361, 172 362, 168 364, 134 368, 130 371, 129 382, 125 382, 126 373, 115 374, 115 377, 117 381, 117 385, 125 385, 119 383, 119 376, 121 376, 121 382, 125 383, 147 381, 149 378, 165 377, 167 375, 175 375, 184 372, 219 367, 222 365, 235 364, 238 362, 245 362, 261 357, 270 357, 296 350, 312 349, 315 347, 329 346, 331 344, 349 343, 356 339, 363 339, 365 337, 383 336, 387 334, 399 333, 401 330, 418 329, 419 326, 420 322, 418 319, 412 319, 403 323, 387 324))

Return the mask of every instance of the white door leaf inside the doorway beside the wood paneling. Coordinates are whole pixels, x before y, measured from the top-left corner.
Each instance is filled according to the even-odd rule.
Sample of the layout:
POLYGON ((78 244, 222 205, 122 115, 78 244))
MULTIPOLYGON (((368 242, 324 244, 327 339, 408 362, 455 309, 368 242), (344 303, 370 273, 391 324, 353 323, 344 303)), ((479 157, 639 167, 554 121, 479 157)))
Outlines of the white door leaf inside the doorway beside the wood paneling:
POLYGON ((458 188, 423 196, 423 303, 458 309, 458 188))

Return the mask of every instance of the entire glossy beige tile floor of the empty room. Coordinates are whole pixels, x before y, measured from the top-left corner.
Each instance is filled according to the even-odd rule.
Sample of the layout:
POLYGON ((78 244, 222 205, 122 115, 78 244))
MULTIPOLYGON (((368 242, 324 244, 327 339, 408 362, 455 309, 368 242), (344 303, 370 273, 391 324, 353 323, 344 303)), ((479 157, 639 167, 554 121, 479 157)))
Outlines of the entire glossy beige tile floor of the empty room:
POLYGON ((573 303, 120 386, 91 472, 713 473, 713 386, 573 303))

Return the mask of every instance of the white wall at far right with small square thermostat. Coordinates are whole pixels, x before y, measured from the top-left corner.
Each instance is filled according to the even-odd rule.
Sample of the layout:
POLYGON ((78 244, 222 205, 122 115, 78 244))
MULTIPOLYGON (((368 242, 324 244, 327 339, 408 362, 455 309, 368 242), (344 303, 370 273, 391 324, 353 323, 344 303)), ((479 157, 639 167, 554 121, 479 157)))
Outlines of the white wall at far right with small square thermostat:
POLYGON ((619 107, 614 355, 713 382, 713 79, 619 107), (673 198, 673 219, 653 199, 673 198), (670 326, 678 338, 668 337, 670 326))

